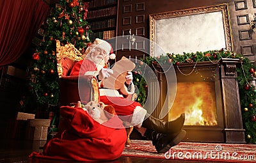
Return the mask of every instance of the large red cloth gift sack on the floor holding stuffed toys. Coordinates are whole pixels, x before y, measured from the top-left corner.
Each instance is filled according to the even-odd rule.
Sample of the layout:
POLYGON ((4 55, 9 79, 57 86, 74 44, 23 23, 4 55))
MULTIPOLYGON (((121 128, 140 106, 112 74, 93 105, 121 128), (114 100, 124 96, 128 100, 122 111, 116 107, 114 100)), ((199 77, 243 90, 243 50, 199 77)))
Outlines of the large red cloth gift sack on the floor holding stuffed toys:
POLYGON ((29 157, 81 162, 120 157, 127 134, 118 116, 100 124, 82 108, 63 106, 60 114, 63 120, 56 137, 45 144, 44 152, 33 152, 29 157))

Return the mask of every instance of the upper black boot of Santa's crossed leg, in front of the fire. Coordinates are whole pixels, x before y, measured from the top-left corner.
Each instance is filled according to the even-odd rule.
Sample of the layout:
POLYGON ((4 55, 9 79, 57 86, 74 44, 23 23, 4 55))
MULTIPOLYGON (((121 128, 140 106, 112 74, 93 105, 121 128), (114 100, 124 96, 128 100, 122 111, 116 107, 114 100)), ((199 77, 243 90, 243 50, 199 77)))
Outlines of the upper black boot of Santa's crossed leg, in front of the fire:
POLYGON ((147 114, 145 117, 148 117, 148 118, 143 121, 142 127, 149 128, 151 130, 155 130, 163 134, 170 134, 170 133, 172 134, 172 133, 180 132, 185 121, 184 113, 182 113, 179 118, 173 121, 159 120, 149 114, 147 114))

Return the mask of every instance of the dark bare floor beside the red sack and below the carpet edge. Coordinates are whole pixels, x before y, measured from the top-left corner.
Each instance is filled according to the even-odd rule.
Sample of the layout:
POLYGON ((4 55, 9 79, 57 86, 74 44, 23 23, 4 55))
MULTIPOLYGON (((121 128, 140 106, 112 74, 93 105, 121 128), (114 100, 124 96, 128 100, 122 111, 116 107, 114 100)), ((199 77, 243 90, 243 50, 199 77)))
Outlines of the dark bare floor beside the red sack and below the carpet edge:
MULTIPOLYGON (((17 141, 14 139, 2 139, 0 146, 0 163, 67 163, 72 161, 49 160, 49 159, 31 159, 28 155, 32 151, 42 151, 42 146, 45 141, 17 141)), ((102 161, 104 163, 121 163, 121 162, 150 162, 150 163, 166 163, 166 162, 199 162, 193 160, 166 160, 166 159, 149 159, 140 157, 120 157, 113 161, 102 161)), ((201 161, 209 162, 209 161, 201 161)), ((213 162, 212 162, 213 163, 213 162)))

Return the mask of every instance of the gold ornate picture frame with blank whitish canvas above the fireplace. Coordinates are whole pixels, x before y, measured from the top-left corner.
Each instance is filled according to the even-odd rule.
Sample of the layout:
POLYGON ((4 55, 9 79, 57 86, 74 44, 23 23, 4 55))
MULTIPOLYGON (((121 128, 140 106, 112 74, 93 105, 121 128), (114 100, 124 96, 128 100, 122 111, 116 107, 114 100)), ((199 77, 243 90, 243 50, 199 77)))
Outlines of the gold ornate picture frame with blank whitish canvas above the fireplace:
POLYGON ((150 19, 150 56, 233 50, 228 4, 154 13, 150 19))

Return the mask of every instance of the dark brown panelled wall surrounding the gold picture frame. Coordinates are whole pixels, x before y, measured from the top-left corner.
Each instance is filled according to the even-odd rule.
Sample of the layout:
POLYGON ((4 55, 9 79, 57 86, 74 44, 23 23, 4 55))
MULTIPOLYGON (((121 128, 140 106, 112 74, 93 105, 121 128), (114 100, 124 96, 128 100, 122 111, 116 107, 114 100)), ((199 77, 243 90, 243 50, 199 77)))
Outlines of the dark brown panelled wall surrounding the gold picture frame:
MULTIPOLYGON (((131 33, 134 35, 149 38, 150 14, 198 8, 223 3, 228 4, 234 52, 244 54, 244 56, 250 58, 252 61, 255 61, 256 34, 253 34, 252 30, 250 30, 250 21, 253 20, 253 15, 256 13, 256 4, 254 0, 120 0, 118 12, 118 36, 122 36, 123 34, 127 35, 127 31, 131 30, 131 33)), ((131 49, 136 49, 136 45, 130 45, 130 47, 131 49)), ((147 46, 145 48, 147 48, 147 46)), ((131 56, 132 58, 135 58, 135 56, 141 58, 143 56, 143 52, 127 49, 118 50, 117 54, 117 59, 121 58, 121 56, 131 56)))

